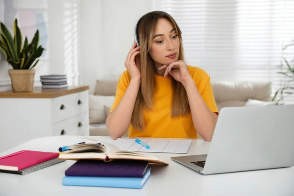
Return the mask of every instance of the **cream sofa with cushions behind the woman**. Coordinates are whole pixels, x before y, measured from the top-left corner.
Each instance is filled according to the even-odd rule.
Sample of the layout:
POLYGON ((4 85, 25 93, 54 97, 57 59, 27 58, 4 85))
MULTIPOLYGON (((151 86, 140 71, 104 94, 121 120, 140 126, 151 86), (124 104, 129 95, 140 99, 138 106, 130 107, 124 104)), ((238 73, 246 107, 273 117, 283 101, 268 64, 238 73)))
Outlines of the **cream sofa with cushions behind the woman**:
MULTIPOLYGON (((105 120, 113 104, 117 79, 97 80, 94 95, 89 95, 90 135, 109 136, 105 120)), ((223 107, 271 105, 270 82, 212 82, 219 112, 223 107)), ((126 133, 124 136, 127 136, 126 133)))

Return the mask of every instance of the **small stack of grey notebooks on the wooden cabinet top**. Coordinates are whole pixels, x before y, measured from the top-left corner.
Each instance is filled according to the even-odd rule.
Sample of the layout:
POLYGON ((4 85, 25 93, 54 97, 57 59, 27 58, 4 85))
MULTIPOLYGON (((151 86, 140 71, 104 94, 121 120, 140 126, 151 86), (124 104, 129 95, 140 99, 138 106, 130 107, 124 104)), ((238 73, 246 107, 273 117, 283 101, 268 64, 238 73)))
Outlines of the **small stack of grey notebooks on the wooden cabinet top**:
POLYGON ((41 83, 42 88, 66 88, 68 87, 67 84, 67 77, 65 74, 51 74, 51 75, 41 75, 41 83))

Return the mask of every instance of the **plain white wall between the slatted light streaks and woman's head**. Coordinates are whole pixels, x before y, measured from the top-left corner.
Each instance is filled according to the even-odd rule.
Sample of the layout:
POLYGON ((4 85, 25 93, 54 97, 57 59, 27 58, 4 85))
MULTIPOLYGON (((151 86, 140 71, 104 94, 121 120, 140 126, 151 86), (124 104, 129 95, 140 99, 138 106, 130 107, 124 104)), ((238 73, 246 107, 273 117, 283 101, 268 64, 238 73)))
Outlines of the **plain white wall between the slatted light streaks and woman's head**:
POLYGON ((119 77, 133 44, 136 21, 152 10, 152 0, 85 0, 80 3, 79 67, 93 94, 97 79, 119 77), (118 65, 121 67, 118 69, 118 65))

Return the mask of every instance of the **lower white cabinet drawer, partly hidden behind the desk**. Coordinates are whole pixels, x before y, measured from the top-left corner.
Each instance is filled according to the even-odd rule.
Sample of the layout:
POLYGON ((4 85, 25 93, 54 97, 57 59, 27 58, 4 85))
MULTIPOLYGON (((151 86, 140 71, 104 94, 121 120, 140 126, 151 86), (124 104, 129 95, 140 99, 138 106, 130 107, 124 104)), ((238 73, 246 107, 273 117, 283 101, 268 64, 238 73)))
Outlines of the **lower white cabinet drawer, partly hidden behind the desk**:
POLYGON ((52 133, 60 135, 88 135, 89 121, 87 113, 82 113, 70 119, 53 124, 52 133))

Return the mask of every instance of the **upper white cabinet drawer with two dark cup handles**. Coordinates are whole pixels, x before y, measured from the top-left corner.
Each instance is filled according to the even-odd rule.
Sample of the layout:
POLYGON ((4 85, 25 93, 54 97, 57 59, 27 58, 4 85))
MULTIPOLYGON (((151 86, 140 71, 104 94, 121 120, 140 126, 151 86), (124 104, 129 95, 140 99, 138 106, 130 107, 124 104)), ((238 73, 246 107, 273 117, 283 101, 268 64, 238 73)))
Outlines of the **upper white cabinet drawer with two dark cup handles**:
POLYGON ((52 99, 52 123, 57 123, 86 112, 88 91, 82 91, 52 99))

